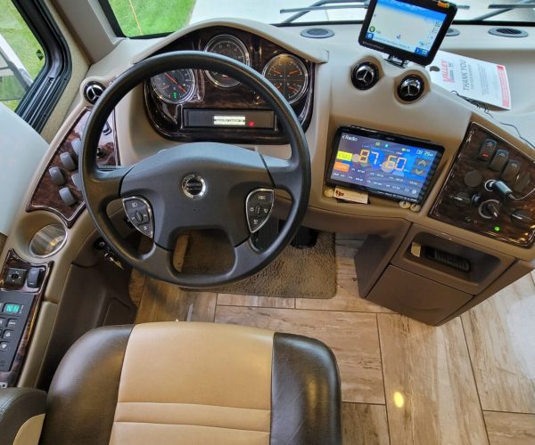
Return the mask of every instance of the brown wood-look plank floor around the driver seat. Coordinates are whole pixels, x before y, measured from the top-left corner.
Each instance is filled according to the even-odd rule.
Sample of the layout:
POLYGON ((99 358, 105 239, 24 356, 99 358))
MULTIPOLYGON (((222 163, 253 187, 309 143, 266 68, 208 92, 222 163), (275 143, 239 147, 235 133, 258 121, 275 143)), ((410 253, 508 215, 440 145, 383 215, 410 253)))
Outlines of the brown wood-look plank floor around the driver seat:
POLYGON ((535 445, 535 276, 432 328, 358 296, 355 248, 337 241, 329 300, 190 293, 134 272, 136 321, 317 337, 339 363, 347 445, 535 445))

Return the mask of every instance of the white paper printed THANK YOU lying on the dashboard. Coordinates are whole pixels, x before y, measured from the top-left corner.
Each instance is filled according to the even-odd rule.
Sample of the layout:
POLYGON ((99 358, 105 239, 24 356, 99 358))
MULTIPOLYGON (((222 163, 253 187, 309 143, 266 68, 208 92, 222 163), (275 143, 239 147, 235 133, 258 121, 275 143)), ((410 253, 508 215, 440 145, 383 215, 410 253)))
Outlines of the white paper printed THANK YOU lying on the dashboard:
POLYGON ((506 67, 439 51, 427 67, 433 84, 474 101, 511 109, 506 67))

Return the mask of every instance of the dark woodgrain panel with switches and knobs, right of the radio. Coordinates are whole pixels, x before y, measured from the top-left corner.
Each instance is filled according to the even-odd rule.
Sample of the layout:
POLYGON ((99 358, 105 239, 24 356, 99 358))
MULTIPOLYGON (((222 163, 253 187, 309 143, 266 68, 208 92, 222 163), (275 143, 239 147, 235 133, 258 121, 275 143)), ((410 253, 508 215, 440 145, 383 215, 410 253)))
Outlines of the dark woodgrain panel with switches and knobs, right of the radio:
POLYGON ((520 247, 535 240, 535 161, 471 124, 430 216, 520 247))

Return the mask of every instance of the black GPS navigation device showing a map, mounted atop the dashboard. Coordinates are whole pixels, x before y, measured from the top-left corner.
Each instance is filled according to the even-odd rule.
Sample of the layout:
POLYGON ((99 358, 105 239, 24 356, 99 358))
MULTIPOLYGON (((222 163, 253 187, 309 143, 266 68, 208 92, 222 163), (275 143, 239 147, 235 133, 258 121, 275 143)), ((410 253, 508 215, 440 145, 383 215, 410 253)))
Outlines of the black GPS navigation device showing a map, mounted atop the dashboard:
POLYGON ((358 43, 429 65, 456 12, 455 4, 440 0, 371 0, 358 43))

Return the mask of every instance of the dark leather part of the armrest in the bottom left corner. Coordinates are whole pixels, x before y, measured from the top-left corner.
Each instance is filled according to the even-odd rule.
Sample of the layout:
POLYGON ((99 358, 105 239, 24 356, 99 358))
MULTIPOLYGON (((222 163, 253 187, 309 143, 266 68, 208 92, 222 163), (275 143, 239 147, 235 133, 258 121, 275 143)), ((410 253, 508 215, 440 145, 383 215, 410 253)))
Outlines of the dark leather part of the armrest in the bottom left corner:
POLYGON ((32 388, 0 389, 0 445, 12 445, 31 417, 45 414, 46 392, 32 388))

